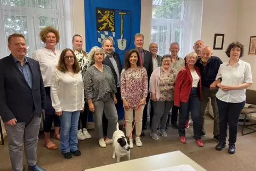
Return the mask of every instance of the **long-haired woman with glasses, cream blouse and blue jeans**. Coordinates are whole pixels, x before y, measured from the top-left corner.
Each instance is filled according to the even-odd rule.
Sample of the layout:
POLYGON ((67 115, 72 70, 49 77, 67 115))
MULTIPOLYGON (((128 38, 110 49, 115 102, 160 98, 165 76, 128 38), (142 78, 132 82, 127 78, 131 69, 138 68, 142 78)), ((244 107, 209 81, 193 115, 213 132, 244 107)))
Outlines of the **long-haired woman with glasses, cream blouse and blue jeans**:
POLYGON ((80 66, 71 49, 64 49, 59 57, 50 95, 56 115, 61 117, 61 152, 64 158, 80 156, 76 133, 80 111, 84 110, 84 90, 80 66))

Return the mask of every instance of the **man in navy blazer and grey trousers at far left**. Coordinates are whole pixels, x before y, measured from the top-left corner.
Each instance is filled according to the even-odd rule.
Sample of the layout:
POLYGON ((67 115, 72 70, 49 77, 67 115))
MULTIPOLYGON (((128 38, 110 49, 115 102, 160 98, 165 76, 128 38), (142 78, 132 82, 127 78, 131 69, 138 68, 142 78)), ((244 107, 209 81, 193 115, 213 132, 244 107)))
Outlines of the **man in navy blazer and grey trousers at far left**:
POLYGON ((37 165, 37 142, 44 109, 45 88, 39 63, 25 57, 23 35, 8 37, 11 54, 0 60, 0 114, 7 132, 12 170, 23 170, 24 141, 28 170, 41 171, 37 165))

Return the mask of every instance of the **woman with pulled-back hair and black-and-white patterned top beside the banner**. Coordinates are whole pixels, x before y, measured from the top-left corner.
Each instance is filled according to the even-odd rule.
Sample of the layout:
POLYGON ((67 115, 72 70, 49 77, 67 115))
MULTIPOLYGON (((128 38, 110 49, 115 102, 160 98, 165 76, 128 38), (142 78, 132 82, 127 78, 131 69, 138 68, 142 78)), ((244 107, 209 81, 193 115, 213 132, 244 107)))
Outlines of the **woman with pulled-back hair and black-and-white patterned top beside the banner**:
MULTIPOLYGON (((82 78, 84 78, 84 73, 86 73, 86 70, 88 67, 90 67, 90 61, 88 58, 88 54, 84 52, 82 49, 83 46, 83 39, 80 35, 74 35, 72 38, 72 44, 74 48, 74 54, 76 56, 76 59, 78 59, 79 66, 81 68, 82 72, 82 78)), ((84 110, 80 114, 80 118, 78 121, 78 139, 79 140, 85 140, 90 139, 91 135, 88 133, 86 127, 88 122, 88 104, 87 102, 84 103, 84 110), (80 125, 80 122, 82 125, 80 125), (81 127, 82 126, 82 127, 81 127)))

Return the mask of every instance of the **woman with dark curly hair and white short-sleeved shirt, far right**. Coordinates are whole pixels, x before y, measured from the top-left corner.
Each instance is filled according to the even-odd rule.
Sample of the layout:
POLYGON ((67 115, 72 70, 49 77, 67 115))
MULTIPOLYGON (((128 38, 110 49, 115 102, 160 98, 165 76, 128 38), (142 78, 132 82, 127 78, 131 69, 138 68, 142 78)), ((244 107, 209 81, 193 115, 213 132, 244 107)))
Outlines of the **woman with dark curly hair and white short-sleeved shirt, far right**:
POLYGON ((235 142, 239 115, 245 105, 246 88, 252 84, 251 65, 242 61, 244 46, 240 42, 229 44, 226 55, 228 62, 220 65, 216 80, 219 90, 216 94, 219 108, 219 133, 220 142, 216 150, 226 147, 227 124, 229 125, 228 153, 235 153, 235 142))

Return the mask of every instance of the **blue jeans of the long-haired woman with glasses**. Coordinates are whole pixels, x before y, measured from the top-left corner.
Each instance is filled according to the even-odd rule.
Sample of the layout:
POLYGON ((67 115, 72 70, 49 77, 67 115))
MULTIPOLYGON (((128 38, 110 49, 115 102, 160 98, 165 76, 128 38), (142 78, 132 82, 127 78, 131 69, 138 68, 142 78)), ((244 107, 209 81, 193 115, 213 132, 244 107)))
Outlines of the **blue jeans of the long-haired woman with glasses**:
POLYGON ((78 150, 78 121, 80 110, 74 112, 62 111, 61 115, 61 152, 78 150))

